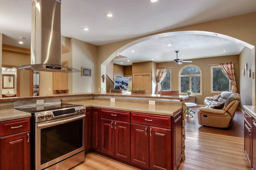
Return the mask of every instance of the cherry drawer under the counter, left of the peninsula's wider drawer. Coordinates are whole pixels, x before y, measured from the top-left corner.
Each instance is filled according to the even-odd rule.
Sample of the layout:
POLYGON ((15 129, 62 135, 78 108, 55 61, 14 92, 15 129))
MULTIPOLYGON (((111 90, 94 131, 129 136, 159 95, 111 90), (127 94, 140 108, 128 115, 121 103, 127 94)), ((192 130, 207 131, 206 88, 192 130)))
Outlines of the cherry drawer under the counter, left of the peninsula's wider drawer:
POLYGON ((101 109, 101 117, 106 119, 130 122, 130 111, 101 109))

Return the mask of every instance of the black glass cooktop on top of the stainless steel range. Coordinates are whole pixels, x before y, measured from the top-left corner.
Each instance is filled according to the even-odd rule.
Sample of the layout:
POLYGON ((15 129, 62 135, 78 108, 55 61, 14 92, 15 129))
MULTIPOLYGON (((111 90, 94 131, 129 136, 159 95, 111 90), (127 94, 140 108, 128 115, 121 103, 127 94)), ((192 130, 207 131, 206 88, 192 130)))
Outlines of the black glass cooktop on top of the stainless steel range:
POLYGON ((51 103, 51 104, 21 106, 21 107, 15 107, 15 109, 30 112, 30 113, 35 113, 40 111, 50 111, 50 110, 64 109, 64 108, 76 107, 76 106, 81 106, 81 105, 66 104, 66 103, 51 103))

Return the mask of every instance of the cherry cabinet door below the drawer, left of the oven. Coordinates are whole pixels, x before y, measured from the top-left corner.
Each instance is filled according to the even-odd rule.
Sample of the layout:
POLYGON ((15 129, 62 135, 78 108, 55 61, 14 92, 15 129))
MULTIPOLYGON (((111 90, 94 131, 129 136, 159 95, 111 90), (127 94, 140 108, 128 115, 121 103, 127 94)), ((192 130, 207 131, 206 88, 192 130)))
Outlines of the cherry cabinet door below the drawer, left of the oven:
POLYGON ((30 170, 30 131, 0 138, 0 169, 30 170))

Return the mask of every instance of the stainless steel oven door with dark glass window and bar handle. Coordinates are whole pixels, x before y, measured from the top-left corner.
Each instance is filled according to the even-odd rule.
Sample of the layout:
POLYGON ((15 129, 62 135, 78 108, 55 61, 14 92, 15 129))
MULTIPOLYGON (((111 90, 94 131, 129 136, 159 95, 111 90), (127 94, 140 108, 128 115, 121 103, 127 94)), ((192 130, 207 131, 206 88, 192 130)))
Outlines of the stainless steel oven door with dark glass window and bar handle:
POLYGON ((84 151, 84 123, 85 114, 36 123, 36 170, 84 151))

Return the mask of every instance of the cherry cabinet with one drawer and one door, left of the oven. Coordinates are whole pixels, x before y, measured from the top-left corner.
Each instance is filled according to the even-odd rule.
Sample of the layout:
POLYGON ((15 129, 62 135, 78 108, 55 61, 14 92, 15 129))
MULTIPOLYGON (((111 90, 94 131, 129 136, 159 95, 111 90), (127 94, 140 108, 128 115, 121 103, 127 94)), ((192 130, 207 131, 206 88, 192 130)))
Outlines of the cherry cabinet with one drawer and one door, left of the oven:
POLYGON ((30 118, 0 122, 0 169, 30 170, 30 118))

